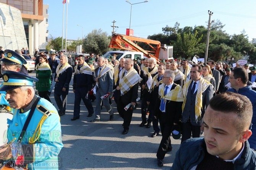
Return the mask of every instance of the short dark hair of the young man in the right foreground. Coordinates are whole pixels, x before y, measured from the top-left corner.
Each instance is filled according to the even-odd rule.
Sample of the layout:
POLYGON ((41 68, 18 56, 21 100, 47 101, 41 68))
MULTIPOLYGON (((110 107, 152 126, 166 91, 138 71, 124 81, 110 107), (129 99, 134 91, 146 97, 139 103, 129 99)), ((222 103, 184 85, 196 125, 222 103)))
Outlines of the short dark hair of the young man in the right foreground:
POLYGON ((239 121, 235 121, 235 127, 239 133, 244 130, 245 127, 250 128, 253 106, 245 95, 224 92, 212 97, 209 101, 209 106, 215 111, 237 114, 239 121))

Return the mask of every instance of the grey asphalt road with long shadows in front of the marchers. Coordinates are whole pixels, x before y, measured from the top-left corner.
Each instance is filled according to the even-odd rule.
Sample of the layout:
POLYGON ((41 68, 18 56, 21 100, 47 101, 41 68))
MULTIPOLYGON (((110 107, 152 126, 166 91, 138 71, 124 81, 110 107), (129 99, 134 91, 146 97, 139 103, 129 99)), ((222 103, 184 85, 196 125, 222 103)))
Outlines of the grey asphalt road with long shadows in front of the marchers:
MULTIPOLYGON (((35 73, 30 73, 35 76, 35 73)), ((73 118, 75 95, 72 91, 73 77, 70 82, 66 114, 61 116, 62 148, 60 170, 169 170, 175 158, 175 153, 181 140, 172 140, 173 150, 165 155, 164 167, 157 166, 156 152, 162 136, 152 138, 153 127, 139 127, 141 123, 140 103, 133 112, 133 118, 128 134, 122 135, 123 119, 117 113, 117 107, 112 100, 115 112, 113 121, 109 121, 109 113, 103 107, 101 122, 91 123, 95 114, 87 118, 87 109, 81 101, 80 119, 73 118)), ((57 107, 53 92, 50 99, 57 107)), ((139 101, 141 102, 141 101, 139 101)), ((95 109, 95 102, 92 103, 95 109)))

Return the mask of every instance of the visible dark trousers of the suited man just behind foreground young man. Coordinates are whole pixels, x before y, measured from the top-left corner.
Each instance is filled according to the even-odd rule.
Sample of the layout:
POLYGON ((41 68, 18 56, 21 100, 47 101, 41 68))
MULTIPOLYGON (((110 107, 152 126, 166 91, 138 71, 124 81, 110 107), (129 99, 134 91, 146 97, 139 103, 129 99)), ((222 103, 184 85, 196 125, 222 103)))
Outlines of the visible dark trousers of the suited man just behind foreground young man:
POLYGON ((183 133, 182 133, 181 143, 187 139, 190 139, 191 132, 192 132, 193 138, 200 137, 201 126, 194 126, 191 124, 190 121, 186 123, 182 123, 182 129, 183 129, 183 133))

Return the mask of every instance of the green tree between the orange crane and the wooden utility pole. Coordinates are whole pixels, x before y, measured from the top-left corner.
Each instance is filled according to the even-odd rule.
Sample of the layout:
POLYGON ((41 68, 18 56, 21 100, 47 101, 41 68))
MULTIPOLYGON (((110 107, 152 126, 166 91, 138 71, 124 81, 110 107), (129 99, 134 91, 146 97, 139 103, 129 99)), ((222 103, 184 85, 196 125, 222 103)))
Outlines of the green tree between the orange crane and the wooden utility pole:
POLYGON ((192 59, 194 55, 202 52, 202 50, 198 48, 202 36, 198 37, 197 34, 198 32, 196 31, 194 34, 190 32, 177 35, 177 42, 173 46, 175 58, 181 56, 186 59, 192 59))

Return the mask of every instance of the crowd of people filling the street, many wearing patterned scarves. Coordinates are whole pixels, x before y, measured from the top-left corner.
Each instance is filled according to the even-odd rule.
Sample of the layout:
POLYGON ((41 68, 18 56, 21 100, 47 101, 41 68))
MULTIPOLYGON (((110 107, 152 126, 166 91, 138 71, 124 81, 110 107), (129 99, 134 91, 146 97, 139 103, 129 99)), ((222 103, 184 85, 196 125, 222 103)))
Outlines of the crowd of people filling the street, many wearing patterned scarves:
MULTIPOLYGON (((18 109, 18 114, 23 112, 29 114, 32 104, 26 103, 28 100, 24 100, 22 105, 15 105, 13 101, 16 93, 24 91, 22 85, 19 85, 20 81, 26 79, 28 81, 26 84, 35 81, 41 97, 39 101, 42 100, 44 103, 42 108, 39 107, 39 112, 65 115, 69 85, 73 75, 73 68, 69 63, 70 57, 65 56, 64 52, 60 52, 59 57, 56 57, 55 52, 51 53, 50 57, 46 54, 38 54, 36 78, 28 78, 28 75, 17 78, 17 73, 14 72, 20 72, 21 69, 6 72, 8 69, 5 68, 12 66, 20 68, 18 65, 22 66, 25 63, 20 57, 14 51, 7 50, 5 57, 1 59, 1 72, 10 77, 4 79, 6 83, 0 90, 6 91, 6 95, 1 94, 1 99, 5 98, 6 104, 18 109), (19 61, 11 64, 14 61, 10 59, 8 61, 8 55, 19 61), (16 79, 17 83, 13 79, 16 79), (10 86, 9 81, 14 85, 10 86), (18 89, 18 92, 15 89, 18 89), (53 90, 58 111, 49 99, 53 90), (13 101, 10 100, 12 95, 13 101), (49 110, 48 106, 52 110, 49 110)), ((133 110, 137 107, 138 100, 141 100, 141 123, 138 127, 151 128, 152 124, 154 133, 151 137, 158 136, 160 132, 162 134, 156 154, 159 167, 164 165, 165 154, 172 151, 171 137, 177 140, 182 136, 181 146, 172 166, 173 170, 223 169, 223 167, 255 169, 256 91, 251 86, 256 82, 255 73, 254 66, 248 69, 245 65, 243 68, 238 65, 231 69, 227 64, 214 61, 191 63, 187 59, 177 59, 168 62, 161 60, 157 64, 154 58, 116 60, 115 56, 106 59, 96 57, 93 53, 90 53, 90 57, 79 55, 72 84, 75 105, 71 121, 80 118, 81 100, 87 108, 87 117, 94 115, 91 123, 105 119, 100 114, 102 106, 105 106, 109 113, 109 121, 113 121, 114 110, 111 99, 114 99, 117 112, 123 119, 122 134, 126 135, 129 132, 133 110), (94 100, 96 100, 95 109, 92 107, 94 100), (202 133, 204 137, 200 138, 202 133), (192 139, 190 139, 191 135, 192 139)), ((23 95, 28 95, 29 101, 34 103, 36 95, 31 93, 31 88, 25 91, 23 95)), ((38 117, 44 115, 39 114, 38 117)), ((14 116, 13 121, 18 121, 16 119, 20 118, 14 116)), ((52 123, 47 120, 49 119, 41 124, 52 123)), ((55 123, 48 126, 61 133, 59 120, 55 119, 55 123)), ((16 130, 14 126, 11 127, 13 129, 8 130, 10 134, 16 130)), ((9 135, 8 140, 11 141, 16 135, 9 135)), ((46 140, 45 145, 56 144, 57 151, 51 153, 56 156, 63 144, 61 139, 53 138, 53 140, 46 140), (49 144, 50 142, 52 143, 49 144)), ((34 143, 24 141, 22 144, 35 147, 37 142, 37 140, 34 140, 34 143)), ((31 157, 32 152, 27 153, 31 157)), ((45 160, 47 159, 49 158, 45 157, 45 160)), ((28 160, 27 163, 35 164, 37 160, 33 161, 28 160)))

